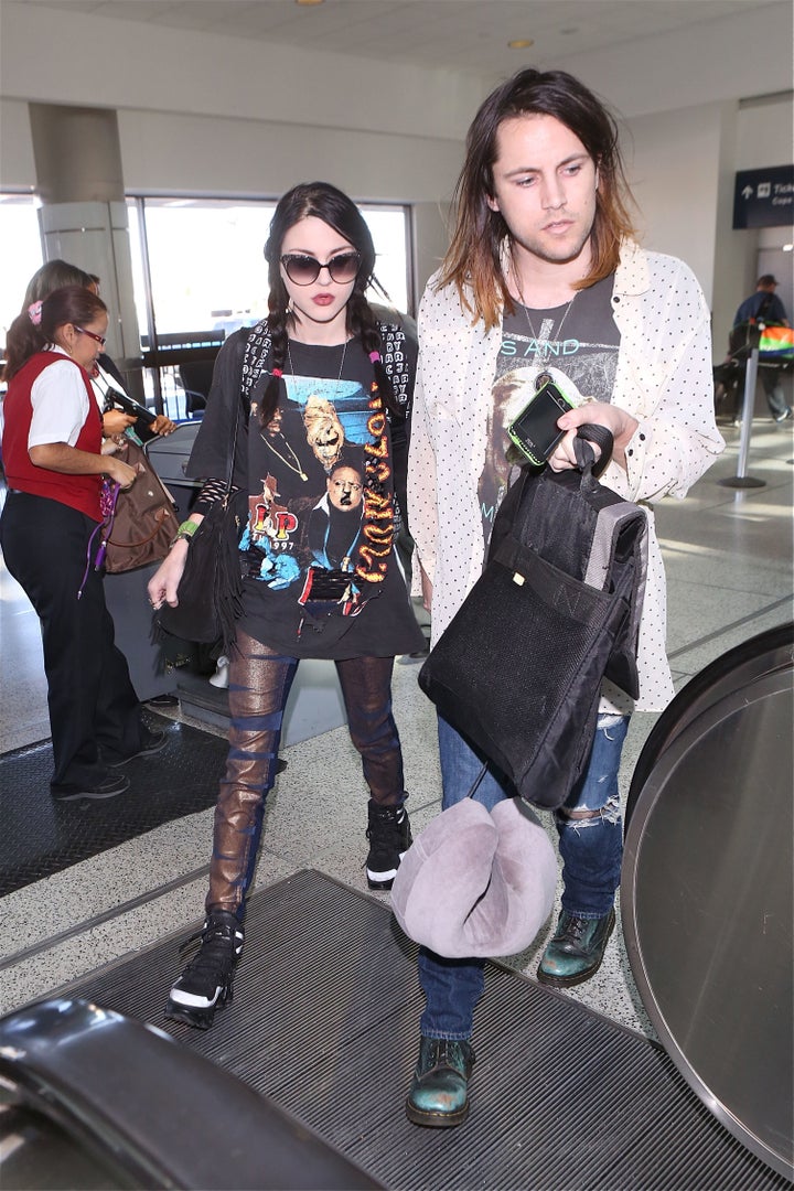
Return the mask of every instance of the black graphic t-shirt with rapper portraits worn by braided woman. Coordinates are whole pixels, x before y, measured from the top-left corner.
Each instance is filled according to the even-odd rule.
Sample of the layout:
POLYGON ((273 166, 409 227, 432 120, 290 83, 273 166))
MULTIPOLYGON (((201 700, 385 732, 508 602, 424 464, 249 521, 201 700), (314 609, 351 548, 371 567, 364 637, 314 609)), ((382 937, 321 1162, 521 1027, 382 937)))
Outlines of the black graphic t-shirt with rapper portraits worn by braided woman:
POLYGON ((244 631, 292 656, 420 648, 392 547, 390 434, 371 362, 357 341, 290 342, 283 395, 263 426, 269 379, 251 394, 244 631))

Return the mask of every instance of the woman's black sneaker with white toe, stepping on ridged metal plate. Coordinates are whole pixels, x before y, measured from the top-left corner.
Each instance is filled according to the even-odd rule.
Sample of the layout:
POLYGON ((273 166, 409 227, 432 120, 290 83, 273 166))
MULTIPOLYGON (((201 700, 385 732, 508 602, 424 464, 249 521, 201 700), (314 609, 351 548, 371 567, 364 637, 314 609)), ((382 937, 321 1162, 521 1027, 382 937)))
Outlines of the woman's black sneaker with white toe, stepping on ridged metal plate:
POLYGON ((165 1017, 208 1030, 215 1010, 231 1003, 235 966, 243 950, 244 933, 233 913, 213 910, 204 928, 181 949, 195 939, 201 940, 201 946, 171 989, 165 1017))

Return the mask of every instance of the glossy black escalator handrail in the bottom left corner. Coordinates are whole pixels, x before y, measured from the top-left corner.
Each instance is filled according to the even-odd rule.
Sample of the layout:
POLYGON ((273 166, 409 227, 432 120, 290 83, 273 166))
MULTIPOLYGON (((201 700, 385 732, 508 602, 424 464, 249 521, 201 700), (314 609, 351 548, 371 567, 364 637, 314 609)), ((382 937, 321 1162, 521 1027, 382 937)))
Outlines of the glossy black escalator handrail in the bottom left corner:
POLYGON ((144 1187, 381 1186, 229 1071, 86 1000, 0 1019, 0 1080, 4 1099, 46 1115, 144 1187))

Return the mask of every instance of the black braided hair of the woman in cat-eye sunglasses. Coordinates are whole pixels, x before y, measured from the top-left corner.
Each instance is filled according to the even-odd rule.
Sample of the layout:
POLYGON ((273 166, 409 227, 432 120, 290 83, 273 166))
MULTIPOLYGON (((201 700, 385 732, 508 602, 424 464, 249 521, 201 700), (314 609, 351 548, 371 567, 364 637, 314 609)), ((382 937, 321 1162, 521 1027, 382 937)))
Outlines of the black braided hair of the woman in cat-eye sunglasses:
MULTIPOLYGON (((301 182, 288 191, 279 201, 270 222, 270 235, 264 245, 264 258, 268 262, 268 328, 271 337, 271 375, 262 395, 260 417, 263 426, 271 420, 279 405, 281 376, 287 360, 289 329, 294 314, 289 311, 289 294, 281 276, 281 245, 283 238, 296 223, 314 216, 330 227, 333 227, 356 249, 361 256, 361 267, 354 282, 352 293, 345 307, 348 333, 361 339, 364 351, 373 361, 375 386, 390 412, 402 416, 402 410, 394 397, 392 382, 381 360, 381 335, 377 319, 367 301, 367 289, 375 279, 375 245, 369 227, 361 211, 346 194, 331 186, 330 182, 301 182)), ((380 288, 380 286, 379 286, 380 288)))

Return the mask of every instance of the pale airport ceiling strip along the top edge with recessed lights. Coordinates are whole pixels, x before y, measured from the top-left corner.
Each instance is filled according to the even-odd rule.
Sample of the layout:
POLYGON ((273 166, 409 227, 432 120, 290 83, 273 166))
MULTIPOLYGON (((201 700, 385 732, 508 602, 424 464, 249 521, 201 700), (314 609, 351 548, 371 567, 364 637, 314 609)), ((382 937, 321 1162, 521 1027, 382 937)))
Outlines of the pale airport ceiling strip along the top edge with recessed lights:
MULTIPOLYGON (((8 0, 6 0, 8 2, 8 0)), ((771 0, 776 4, 776 0, 771 0)), ((11 0, 98 20, 505 75, 767 7, 767 0, 11 0), (508 49, 509 42, 531 46, 508 49)))

